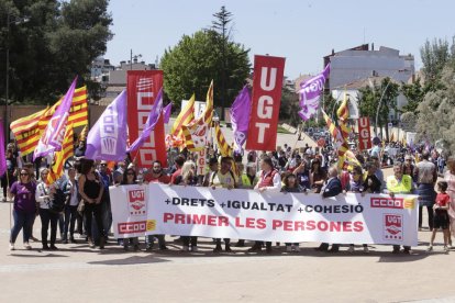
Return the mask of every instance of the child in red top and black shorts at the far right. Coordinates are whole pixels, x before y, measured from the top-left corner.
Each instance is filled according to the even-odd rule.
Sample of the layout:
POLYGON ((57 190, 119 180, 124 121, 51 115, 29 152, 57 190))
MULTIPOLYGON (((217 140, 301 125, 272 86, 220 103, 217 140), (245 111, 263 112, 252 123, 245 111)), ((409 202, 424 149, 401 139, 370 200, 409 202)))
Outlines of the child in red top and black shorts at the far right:
POLYGON ((439 228, 443 229, 444 234, 444 250, 448 252, 448 239, 451 237, 448 232, 448 206, 451 204, 451 197, 445 192, 447 190, 446 181, 437 182, 437 195, 436 203, 433 205, 434 216, 433 216, 433 234, 431 235, 430 246, 428 251, 433 250, 434 238, 436 237, 436 232, 439 228))

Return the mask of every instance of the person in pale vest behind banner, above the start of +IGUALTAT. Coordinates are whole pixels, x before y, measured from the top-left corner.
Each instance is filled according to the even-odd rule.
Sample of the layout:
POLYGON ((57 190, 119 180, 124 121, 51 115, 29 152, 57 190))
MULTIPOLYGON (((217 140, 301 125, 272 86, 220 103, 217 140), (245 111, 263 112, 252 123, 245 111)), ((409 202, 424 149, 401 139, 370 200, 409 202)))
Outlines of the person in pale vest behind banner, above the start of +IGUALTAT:
MULTIPOLYGON (((237 180, 235 178, 234 172, 231 170, 232 167, 232 158, 231 157, 222 157, 221 158, 221 167, 219 170, 213 171, 210 177, 209 187, 212 189, 215 188, 224 188, 224 189, 234 189, 236 188, 237 180)), ((223 250, 221 247, 221 238, 217 238, 215 240, 215 248, 213 252, 220 252, 223 250)), ((224 250, 226 252, 232 252, 231 249, 231 239, 224 238, 224 250)))

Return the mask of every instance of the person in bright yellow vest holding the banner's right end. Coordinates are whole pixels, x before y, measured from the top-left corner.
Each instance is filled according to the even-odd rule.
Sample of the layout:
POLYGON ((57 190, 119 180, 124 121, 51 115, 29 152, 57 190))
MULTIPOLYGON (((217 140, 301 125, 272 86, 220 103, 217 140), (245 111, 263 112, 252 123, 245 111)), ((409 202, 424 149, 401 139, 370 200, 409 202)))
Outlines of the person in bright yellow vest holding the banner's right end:
MULTIPOLYGON (((401 162, 393 165, 393 175, 387 178, 387 191, 390 197, 393 198, 396 193, 411 193, 412 192, 412 178, 411 176, 403 175, 403 168, 401 162)), ((411 252, 410 246, 403 247, 404 254, 411 252)), ((392 254, 399 254, 400 246, 393 245, 392 254)))

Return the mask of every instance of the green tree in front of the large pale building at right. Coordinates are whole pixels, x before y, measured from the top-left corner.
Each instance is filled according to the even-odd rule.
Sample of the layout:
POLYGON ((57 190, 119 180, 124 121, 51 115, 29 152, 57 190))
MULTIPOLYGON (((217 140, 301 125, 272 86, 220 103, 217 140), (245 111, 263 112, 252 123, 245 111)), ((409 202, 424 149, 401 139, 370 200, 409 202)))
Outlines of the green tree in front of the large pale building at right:
POLYGON ((359 90, 358 109, 362 116, 369 116, 376 130, 386 126, 386 139, 388 141, 388 122, 391 110, 397 111, 397 97, 399 85, 389 77, 384 78, 378 85, 376 81, 373 87, 365 87, 359 90), (378 112, 379 110, 379 112, 378 112), (377 125, 376 125, 377 117, 377 125))

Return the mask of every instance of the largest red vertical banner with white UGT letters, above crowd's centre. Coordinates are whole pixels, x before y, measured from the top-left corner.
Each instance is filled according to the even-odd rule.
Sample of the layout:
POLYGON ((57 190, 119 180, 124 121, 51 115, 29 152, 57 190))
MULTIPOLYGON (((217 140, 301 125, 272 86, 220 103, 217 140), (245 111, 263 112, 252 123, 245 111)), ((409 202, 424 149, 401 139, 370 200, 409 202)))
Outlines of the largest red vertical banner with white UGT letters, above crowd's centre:
POLYGON ((246 149, 276 149, 284 74, 285 58, 254 56, 253 106, 246 149))

